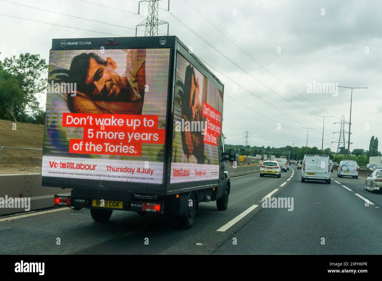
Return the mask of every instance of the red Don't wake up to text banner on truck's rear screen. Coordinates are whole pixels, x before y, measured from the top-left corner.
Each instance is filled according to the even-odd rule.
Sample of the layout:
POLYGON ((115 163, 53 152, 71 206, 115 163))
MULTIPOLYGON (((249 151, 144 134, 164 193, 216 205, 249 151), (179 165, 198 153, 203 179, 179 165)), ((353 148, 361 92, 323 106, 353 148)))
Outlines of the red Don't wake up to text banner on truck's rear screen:
POLYGON ((83 139, 70 139, 70 153, 141 156, 142 143, 165 142, 158 115, 64 113, 62 126, 84 128, 83 139))

